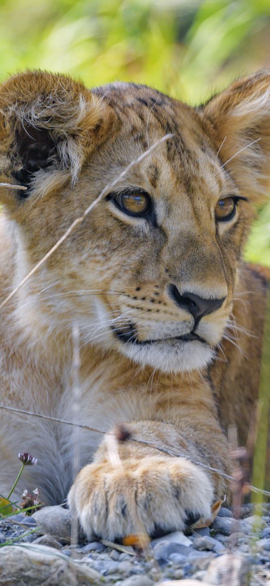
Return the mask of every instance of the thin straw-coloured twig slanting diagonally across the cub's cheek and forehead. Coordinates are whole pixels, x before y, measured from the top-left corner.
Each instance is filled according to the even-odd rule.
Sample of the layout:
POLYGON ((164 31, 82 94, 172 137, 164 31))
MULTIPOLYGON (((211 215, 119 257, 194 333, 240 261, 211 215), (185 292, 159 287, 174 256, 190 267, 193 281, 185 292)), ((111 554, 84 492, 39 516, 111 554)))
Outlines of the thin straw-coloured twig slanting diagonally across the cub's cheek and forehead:
POLYGON ((74 220, 74 222, 66 230, 66 232, 63 234, 63 236, 61 236, 61 238, 59 238, 59 240, 57 240, 57 242, 54 244, 54 246, 52 246, 52 248, 50 248, 50 250, 43 256, 43 258, 41 258, 40 261, 35 265, 35 267, 33 267, 32 270, 30 270, 28 272, 28 274, 25 277, 23 277, 22 281, 20 281, 19 284, 16 285, 16 287, 11 291, 11 293, 9 293, 8 297, 6 297, 4 299, 4 301, 2 301, 2 303, 0 305, 0 309, 2 309, 8 303, 9 299, 11 299, 23 285, 25 285, 25 283, 30 279, 30 277, 32 277, 32 275, 35 274, 35 272, 46 262, 46 260, 57 250, 57 248, 59 248, 59 246, 64 242, 64 240, 67 239, 67 237, 71 234, 71 232, 73 232, 73 230, 77 226, 79 226, 83 222, 84 219, 86 219, 86 216, 88 216, 88 213, 90 213, 91 210, 93 210, 93 208, 101 201, 101 199, 112 188, 114 188, 114 186, 117 185, 117 183, 119 183, 119 181, 123 177, 125 177, 125 175, 127 175, 127 173, 132 169, 132 167, 134 167, 135 165, 138 165, 138 163, 140 163, 143 159, 145 159, 145 157, 148 156, 152 151, 154 151, 156 147, 159 147, 160 144, 162 144, 165 141, 168 141, 168 139, 172 138, 172 136, 173 136, 172 134, 166 134, 164 137, 162 137, 158 141, 154 142, 152 147, 147 149, 147 151, 143 152, 142 155, 138 156, 137 159, 134 159, 134 161, 131 161, 131 163, 129 163, 129 165, 124 169, 124 171, 122 171, 122 173, 120 173, 120 175, 118 175, 117 178, 114 179, 114 181, 112 181, 111 183, 108 183, 108 185, 106 185, 104 187, 104 189, 102 189, 100 195, 94 200, 94 202, 92 202, 90 204, 90 206, 88 206, 87 209, 84 210, 84 212, 83 212, 83 214, 81 214, 81 216, 77 217, 76 220, 74 220))

